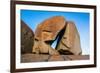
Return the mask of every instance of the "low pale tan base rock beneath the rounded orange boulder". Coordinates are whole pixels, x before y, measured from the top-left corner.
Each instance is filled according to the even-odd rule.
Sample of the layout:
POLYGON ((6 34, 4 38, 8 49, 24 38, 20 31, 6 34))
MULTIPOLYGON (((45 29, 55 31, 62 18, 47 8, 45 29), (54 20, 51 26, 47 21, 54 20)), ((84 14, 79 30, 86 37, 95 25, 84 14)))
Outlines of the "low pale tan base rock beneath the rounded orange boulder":
POLYGON ((34 41, 34 46, 33 46, 33 53, 35 54, 50 54, 50 55, 58 55, 59 52, 54 50, 50 44, 47 44, 43 41, 34 41))

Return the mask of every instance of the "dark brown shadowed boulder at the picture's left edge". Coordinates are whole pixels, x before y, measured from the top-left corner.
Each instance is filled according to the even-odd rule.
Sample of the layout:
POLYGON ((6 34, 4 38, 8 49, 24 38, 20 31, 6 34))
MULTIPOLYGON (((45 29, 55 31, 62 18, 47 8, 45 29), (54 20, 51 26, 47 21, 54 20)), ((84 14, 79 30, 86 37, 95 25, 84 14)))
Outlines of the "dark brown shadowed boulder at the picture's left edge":
POLYGON ((21 54, 32 52, 33 38, 33 31, 21 21, 21 54))

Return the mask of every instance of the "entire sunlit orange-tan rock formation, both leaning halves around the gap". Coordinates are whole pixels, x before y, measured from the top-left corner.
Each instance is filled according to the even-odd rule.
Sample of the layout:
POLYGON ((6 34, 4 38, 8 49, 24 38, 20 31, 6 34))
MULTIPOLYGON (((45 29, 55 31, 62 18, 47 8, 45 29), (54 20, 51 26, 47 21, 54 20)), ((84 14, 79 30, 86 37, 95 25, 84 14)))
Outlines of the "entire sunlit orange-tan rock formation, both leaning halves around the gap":
POLYGON ((46 19, 35 31, 33 53, 79 55, 82 53, 80 36, 73 22, 62 16, 46 19), (58 38, 56 50, 51 44, 58 38), (59 52, 59 53, 58 53, 59 52))

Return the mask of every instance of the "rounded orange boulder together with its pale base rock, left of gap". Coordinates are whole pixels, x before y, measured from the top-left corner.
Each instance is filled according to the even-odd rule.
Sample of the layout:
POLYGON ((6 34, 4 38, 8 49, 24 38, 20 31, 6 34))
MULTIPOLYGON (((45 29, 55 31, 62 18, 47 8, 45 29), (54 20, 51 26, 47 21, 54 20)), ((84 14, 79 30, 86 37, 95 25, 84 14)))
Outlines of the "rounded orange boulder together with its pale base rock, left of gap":
POLYGON ((54 16, 40 23, 35 31, 32 52, 48 53, 50 55, 59 54, 50 45, 56 39, 58 33, 64 28, 65 22, 64 17, 54 16))

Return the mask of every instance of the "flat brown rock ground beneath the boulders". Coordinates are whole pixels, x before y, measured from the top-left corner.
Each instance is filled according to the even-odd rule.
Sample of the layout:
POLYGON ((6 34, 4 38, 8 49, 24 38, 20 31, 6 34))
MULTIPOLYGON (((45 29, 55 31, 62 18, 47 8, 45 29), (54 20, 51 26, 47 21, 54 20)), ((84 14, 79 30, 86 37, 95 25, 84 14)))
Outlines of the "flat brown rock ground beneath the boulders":
POLYGON ((21 62, 50 62, 50 61, 74 61, 89 60, 89 55, 48 55, 48 54, 22 54, 21 62))

